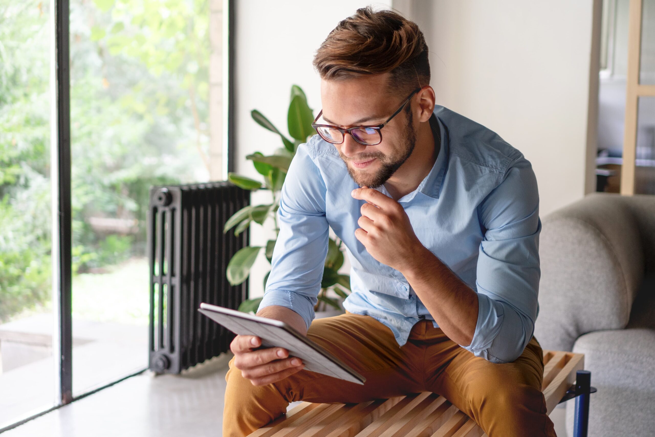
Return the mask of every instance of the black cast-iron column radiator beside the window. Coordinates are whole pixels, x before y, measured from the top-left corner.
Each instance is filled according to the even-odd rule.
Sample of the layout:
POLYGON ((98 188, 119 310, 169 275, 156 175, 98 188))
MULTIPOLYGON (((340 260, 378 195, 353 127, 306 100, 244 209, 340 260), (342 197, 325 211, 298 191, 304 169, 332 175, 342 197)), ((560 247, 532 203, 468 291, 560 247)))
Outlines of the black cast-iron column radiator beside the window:
POLYGON ((248 281, 231 286, 227 263, 248 246, 248 229, 223 234, 225 221, 250 203, 227 181, 151 187, 147 219, 150 269, 149 368, 179 373, 227 352, 234 334, 198 313, 200 302, 236 309, 248 281))

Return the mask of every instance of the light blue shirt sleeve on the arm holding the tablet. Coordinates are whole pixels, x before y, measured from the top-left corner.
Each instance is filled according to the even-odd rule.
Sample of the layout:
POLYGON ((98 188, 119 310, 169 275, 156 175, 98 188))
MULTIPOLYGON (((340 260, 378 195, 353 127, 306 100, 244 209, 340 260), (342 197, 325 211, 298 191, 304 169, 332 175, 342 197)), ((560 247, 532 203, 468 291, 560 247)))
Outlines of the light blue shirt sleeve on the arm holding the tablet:
POLYGON ((286 307, 300 314, 309 329, 323 278, 329 225, 326 185, 308 147, 299 145, 280 191, 280 232, 257 311, 269 305, 286 307))

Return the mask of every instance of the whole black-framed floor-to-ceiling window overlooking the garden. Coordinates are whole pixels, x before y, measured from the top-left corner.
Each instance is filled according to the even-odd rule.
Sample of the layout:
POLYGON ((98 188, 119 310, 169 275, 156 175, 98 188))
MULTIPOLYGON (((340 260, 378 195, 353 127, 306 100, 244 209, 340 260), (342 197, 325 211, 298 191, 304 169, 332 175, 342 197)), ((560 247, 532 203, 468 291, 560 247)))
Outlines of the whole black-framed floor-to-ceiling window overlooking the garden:
POLYGON ((149 187, 227 176, 228 9, 0 0, 0 431, 147 367, 149 187))

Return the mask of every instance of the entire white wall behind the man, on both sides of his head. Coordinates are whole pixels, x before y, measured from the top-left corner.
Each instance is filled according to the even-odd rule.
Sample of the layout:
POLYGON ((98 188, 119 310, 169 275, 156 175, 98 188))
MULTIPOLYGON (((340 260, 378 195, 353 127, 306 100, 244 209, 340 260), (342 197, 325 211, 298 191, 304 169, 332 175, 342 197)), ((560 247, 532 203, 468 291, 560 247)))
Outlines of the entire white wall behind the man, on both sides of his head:
MULTIPOLYGON (((250 111, 259 109, 286 132, 289 91, 297 84, 316 113, 320 90, 314 52, 339 20, 369 2, 234 3, 236 171, 257 178, 245 156, 270 153, 281 143, 250 119, 250 111)), ((589 185, 593 0, 395 0, 393 5, 428 39, 438 104, 495 130, 532 162, 541 216, 583 197, 586 178, 589 185)), ((253 196, 255 204, 268 201, 253 196)), ((253 244, 263 244, 271 235, 265 232, 253 225, 253 244)), ((251 274, 252 297, 263 294, 268 269, 261 255, 251 274)))

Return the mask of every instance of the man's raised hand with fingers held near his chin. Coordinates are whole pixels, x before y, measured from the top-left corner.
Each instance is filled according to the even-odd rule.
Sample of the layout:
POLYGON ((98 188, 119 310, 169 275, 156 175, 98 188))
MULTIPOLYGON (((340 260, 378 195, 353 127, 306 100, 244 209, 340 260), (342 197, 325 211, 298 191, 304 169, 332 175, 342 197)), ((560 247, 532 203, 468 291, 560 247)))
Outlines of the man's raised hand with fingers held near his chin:
POLYGON ((367 202, 362 205, 355 237, 369 254, 401 273, 413 266, 424 246, 400 203, 369 187, 356 188, 350 195, 367 202))

